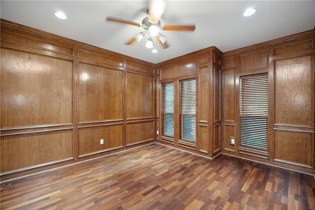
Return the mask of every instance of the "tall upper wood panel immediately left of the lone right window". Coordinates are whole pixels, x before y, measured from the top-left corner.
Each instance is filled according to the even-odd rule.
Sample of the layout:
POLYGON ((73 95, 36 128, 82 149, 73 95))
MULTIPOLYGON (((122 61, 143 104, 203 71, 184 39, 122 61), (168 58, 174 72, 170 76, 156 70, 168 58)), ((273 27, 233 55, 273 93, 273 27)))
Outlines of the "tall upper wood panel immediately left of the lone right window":
POLYGON ((223 120, 235 121, 235 68, 224 69, 223 120))

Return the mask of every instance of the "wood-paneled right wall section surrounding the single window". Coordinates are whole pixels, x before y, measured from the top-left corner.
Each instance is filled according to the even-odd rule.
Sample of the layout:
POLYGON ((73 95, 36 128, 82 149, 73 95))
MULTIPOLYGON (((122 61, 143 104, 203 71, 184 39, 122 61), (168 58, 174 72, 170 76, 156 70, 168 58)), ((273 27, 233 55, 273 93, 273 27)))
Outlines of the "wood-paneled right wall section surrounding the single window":
POLYGON ((223 54, 223 153, 315 174, 314 40, 310 30, 223 54), (239 147, 239 78, 259 73, 268 73, 266 157, 239 147))

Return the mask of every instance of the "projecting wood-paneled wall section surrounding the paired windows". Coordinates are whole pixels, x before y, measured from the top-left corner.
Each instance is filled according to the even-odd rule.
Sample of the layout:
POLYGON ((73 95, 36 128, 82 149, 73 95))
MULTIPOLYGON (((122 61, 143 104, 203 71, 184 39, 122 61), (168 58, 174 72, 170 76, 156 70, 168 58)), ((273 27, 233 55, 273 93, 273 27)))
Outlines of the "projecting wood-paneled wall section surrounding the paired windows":
MULTIPOLYGON (((158 63, 159 84, 174 82, 174 138, 158 136, 158 141, 208 157, 221 151, 221 51, 216 47, 196 51, 176 59, 158 63), (196 79, 196 141, 190 144, 179 139, 180 80, 196 79)), ((160 90, 157 106, 160 106, 160 90)), ((157 114, 159 116, 160 113, 157 114)), ((158 120, 158 128, 161 120, 158 120)))

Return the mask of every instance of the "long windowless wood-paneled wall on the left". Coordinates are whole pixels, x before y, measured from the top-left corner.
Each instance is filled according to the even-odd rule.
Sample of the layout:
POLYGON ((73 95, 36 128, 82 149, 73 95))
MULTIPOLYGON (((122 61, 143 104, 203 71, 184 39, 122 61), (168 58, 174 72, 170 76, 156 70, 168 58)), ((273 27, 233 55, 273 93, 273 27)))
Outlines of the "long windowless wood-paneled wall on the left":
POLYGON ((1 20, 1 179, 154 142, 155 78, 152 63, 1 20))

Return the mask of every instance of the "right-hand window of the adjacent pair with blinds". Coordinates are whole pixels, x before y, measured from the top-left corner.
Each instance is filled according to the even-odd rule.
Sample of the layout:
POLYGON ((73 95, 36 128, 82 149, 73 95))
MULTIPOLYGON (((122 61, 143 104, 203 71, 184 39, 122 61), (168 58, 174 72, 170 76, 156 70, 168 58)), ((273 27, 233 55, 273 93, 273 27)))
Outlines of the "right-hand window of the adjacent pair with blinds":
POLYGON ((179 82, 179 114, 181 140, 196 140, 196 79, 179 82))

